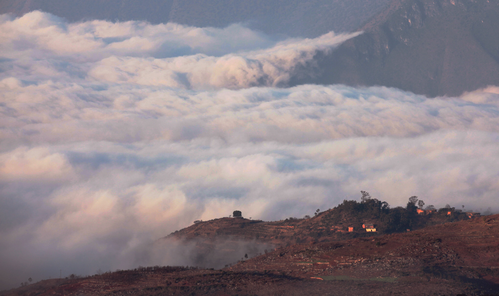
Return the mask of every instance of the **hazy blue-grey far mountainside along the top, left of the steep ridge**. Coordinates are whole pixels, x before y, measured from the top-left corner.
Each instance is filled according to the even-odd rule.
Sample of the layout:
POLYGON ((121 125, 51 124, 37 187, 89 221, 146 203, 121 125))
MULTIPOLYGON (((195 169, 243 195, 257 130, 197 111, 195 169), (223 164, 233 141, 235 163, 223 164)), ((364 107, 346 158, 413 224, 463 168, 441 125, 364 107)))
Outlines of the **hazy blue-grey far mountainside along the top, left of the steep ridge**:
POLYGON ((389 0, 2 0, 0 13, 43 10, 70 21, 148 20, 223 27, 248 22, 266 33, 315 37, 354 31, 389 0))

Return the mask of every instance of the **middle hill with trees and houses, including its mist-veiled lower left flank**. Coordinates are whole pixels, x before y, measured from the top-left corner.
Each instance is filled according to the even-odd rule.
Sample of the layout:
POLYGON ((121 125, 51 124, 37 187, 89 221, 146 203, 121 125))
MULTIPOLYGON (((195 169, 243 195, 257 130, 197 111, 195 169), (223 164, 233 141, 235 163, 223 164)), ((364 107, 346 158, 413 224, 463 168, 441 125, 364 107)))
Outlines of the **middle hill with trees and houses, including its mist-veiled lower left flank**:
POLYGON ((390 209, 377 199, 360 203, 344 201, 333 209, 317 212, 311 218, 290 217, 265 222, 226 217, 198 222, 158 240, 154 249, 161 252, 175 246, 189 250, 182 252, 189 265, 223 268, 236 264, 244 256, 251 258, 279 247, 378 237, 469 219, 464 213, 454 212, 453 209, 449 211, 452 215, 447 215, 447 209, 442 209, 440 213, 417 215, 415 206, 390 209), (373 224, 376 232, 367 232, 363 228, 364 223, 373 224))

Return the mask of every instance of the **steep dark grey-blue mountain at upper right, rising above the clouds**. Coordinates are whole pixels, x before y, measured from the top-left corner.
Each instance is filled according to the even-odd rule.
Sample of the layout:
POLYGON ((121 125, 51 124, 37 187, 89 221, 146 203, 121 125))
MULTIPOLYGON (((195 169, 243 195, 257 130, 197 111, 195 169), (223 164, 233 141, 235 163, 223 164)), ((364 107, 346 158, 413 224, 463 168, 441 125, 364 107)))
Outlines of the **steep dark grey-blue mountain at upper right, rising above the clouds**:
POLYGON ((499 0, 393 0, 365 33, 318 56, 313 83, 384 85, 428 96, 499 84, 499 0))

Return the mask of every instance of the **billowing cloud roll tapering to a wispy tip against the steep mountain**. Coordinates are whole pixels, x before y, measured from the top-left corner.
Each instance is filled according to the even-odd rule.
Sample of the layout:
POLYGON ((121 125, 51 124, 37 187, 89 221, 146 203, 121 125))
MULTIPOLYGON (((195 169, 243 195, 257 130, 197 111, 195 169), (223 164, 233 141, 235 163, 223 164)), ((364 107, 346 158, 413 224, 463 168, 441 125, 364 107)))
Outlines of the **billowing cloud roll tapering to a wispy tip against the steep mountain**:
POLYGON ((331 32, 221 57, 201 53, 167 59, 111 56, 97 63, 89 76, 108 82, 196 89, 286 85, 296 66, 312 62, 318 51, 329 50, 356 35, 331 32))

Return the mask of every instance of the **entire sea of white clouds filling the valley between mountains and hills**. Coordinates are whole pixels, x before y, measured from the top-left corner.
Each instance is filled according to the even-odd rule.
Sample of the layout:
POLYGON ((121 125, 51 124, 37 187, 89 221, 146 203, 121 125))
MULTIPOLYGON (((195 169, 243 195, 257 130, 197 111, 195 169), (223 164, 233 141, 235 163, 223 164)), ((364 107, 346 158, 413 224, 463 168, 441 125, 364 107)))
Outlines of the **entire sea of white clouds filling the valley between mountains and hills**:
POLYGON ((287 87, 357 34, 1 15, 0 288, 182 264, 134 254, 234 210, 302 217, 361 190, 494 208, 499 87, 287 87))

